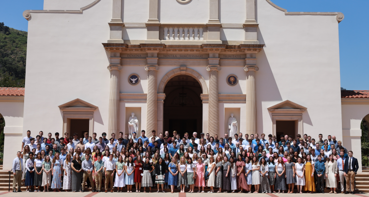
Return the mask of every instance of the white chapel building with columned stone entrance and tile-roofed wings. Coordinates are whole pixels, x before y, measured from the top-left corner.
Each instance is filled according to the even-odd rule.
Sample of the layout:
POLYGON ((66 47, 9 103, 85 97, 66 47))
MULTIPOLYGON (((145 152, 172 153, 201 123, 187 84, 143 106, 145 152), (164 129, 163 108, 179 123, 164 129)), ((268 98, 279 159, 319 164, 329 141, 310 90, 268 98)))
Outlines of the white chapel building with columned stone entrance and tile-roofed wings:
MULTIPOLYGON (((318 140, 361 166, 368 91, 340 90, 340 12, 271 0, 44 0, 26 10, 26 88, 0 89, 4 168, 26 131, 237 132, 318 140), (304 10, 301 10, 304 11, 304 10)), ((361 170, 361 169, 360 169, 361 170)))

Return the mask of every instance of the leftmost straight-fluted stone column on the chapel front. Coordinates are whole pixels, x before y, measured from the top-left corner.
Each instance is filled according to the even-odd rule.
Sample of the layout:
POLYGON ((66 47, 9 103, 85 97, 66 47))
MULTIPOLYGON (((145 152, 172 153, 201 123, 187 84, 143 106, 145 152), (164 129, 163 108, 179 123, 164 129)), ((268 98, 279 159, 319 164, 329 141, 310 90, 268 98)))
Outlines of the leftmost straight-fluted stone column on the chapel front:
POLYGON ((109 123, 108 136, 119 133, 119 78, 122 66, 110 65, 110 95, 109 95, 109 123))

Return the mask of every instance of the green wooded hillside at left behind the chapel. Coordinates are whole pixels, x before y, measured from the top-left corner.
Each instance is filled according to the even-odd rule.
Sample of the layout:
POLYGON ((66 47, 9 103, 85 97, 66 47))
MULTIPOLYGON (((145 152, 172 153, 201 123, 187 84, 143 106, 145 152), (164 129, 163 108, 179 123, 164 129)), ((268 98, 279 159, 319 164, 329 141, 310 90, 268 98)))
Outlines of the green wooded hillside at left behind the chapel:
POLYGON ((0 87, 25 87, 27 32, 0 23, 0 87))

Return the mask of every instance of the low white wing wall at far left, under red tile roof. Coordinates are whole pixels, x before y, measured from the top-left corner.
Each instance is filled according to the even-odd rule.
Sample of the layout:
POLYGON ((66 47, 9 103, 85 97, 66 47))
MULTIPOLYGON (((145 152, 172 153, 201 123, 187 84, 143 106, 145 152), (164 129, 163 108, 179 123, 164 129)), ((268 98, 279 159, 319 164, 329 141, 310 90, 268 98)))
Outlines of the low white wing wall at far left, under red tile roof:
MULTIPOLYGON (((1 96, 9 97, 9 96, 1 96)), ((0 101, 0 114, 4 118, 4 170, 10 170, 13 159, 22 146, 23 132, 23 102, 0 101), (16 148, 14 148, 14 145, 16 148)))

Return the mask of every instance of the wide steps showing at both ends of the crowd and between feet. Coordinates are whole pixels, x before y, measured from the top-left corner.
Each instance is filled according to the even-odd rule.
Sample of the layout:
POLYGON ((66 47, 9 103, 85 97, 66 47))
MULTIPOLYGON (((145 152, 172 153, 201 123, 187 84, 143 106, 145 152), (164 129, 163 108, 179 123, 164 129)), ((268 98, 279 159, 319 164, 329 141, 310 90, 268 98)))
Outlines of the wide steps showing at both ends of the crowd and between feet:
MULTIPOLYGON (((0 165, 0 192, 1 191, 8 191, 9 189, 9 170, 3 170, 2 165, 0 165)), ((360 172, 356 175, 355 178, 356 182, 356 193, 369 193, 369 167, 363 167, 363 172, 360 172)), ((12 183, 13 183, 13 173, 10 173, 10 191, 12 191, 12 183)), ((339 186, 338 186, 339 187, 339 186)), ((177 187, 176 187, 177 188, 177 187)), ((43 190, 43 187, 41 187, 41 191, 43 190)), ((210 189, 205 189, 205 191, 209 191, 210 189)), ((252 187, 253 190, 253 187, 252 187)), ((26 191, 26 187, 22 185, 22 191, 26 191)), ((86 192, 91 191, 91 188, 85 189, 86 192)), ((114 190, 116 191, 116 189, 114 190)), ((123 191, 126 191, 126 189, 123 189, 123 191)), ((132 189, 133 192, 135 192, 135 188, 132 189)), ((141 189, 143 191, 143 189, 141 189)), ((147 189, 147 191, 149 191, 147 189)), ((153 192, 156 192, 156 189, 152 189, 153 192)), ((161 191, 161 189, 160 189, 161 191)), ((170 189, 164 189, 166 192, 170 192, 170 189)), ((176 190, 175 192, 178 192, 179 190, 176 190)), ((197 188, 195 189, 195 192, 197 191, 197 188)), ((296 187, 295 191, 296 192, 296 187)), ((325 190, 325 193, 328 193, 330 190, 325 190)), ((336 189, 337 192, 340 192, 340 189, 336 189)), ((109 191, 110 192, 110 191, 109 191)), ((216 192, 216 190, 215 190, 216 192)))

